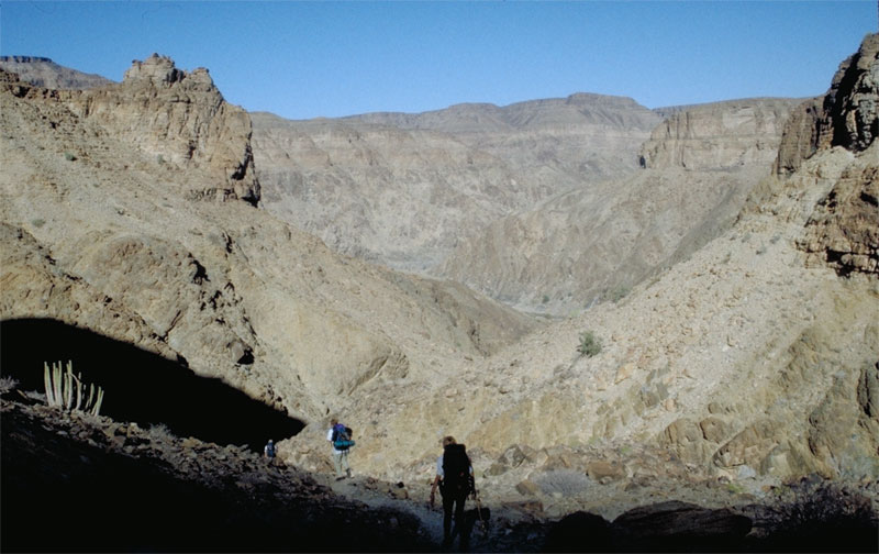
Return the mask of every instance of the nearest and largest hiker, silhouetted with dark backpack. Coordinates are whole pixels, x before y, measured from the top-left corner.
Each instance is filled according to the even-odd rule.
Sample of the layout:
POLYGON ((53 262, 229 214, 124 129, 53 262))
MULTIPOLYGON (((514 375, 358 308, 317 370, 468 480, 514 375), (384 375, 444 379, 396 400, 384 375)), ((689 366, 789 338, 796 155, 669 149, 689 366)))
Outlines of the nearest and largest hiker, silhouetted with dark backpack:
POLYGON ((443 547, 448 547, 460 536, 460 546, 466 549, 469 532, 464 521, 464 503, 467 496, 475 492, 474 466, 467 456, 467 448, 457 444, 454 436, 443 439, 443 455, 436 459, 436 477, 431 485, 431 507, 433 508, 436 488, 443 496, 443 547), (452 532, 452 514, 455 514, 455 531, 452 532))

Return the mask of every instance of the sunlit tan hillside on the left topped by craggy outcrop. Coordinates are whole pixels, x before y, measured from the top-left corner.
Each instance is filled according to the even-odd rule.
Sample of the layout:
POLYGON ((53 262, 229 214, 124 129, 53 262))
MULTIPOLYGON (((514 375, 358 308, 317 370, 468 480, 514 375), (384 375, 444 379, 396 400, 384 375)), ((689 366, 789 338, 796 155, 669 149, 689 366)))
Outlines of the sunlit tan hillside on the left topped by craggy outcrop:
POLYGON ((255 209, 248 117, 205 70, 154 56, 87 91, 0 76, 4 320, 90 329, 309 422, 533 326, 255 209))

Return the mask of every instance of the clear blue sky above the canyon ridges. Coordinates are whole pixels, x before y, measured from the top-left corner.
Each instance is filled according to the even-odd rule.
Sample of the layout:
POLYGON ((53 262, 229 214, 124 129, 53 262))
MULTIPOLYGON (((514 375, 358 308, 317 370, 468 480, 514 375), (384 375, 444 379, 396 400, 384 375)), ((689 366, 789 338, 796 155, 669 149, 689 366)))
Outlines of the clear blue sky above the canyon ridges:
POLYGON ((154 52, 290 119, 598 92, 648 108, 823 93, 876 32, 849 1, 24 1, 0 54, 121 80, 154 52))

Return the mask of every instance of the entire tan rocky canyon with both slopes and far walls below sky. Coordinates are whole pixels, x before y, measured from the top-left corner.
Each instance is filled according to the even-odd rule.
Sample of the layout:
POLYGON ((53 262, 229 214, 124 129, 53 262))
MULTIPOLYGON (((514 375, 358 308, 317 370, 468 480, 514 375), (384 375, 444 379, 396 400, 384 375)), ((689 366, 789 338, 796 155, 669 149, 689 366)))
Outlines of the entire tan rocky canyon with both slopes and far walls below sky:
MULTIPOLYGON (((875 530, 877 101, 879 35, 822 97, 666 111, 578 93, 302 122, 158 55, 86 88, 3 70, 3 450, 42 436, 35 418, 135 465, 244 445, 216 456, 252 472, 274 437, 289 495, 326 518, 372 517, 333 502, 374 492, 402 510, 383 520, 425 525, 363 531, 379 550, 429 547, 416 499, 447 434, 505 522, 487 550, 539 550, 580 512, 619 533, 660 501, 764 540, 781 520, 755 506, 815 479, 852 487, 841 509, 875 530), (104 419, 22 392, 67 358, 108 383, 104 419), (231 406, 238 423, 209 429, 231 406), (325 478, 332 417, 355 429, 347 483, 325 478)), ((30 472, 10 464, 4 489, 30 472)))

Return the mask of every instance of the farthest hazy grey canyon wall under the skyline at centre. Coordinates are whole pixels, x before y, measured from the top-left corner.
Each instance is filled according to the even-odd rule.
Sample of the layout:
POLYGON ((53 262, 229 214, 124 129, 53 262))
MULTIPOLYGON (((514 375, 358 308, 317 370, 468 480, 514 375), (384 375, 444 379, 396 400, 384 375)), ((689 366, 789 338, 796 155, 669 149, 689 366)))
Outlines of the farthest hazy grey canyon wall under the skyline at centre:
POLYGON ((424 272, 489 221, 633 171, 658 121, 598 95, 338 120, 254 114, 254 152, 269 211, 340 252, 424 272))

